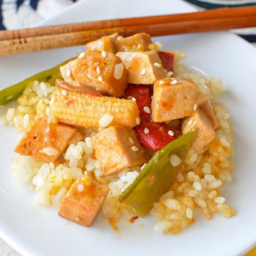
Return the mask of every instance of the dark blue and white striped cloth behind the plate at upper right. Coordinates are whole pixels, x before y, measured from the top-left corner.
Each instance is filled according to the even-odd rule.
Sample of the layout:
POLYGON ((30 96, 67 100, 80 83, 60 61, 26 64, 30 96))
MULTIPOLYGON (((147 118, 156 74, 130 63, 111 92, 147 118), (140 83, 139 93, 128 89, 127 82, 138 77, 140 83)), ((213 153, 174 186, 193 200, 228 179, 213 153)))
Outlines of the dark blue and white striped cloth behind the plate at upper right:
MULTIPOLYGON (((221 7, 242 7, 256 5, 256 0, 186 0, 195 6, 205 9, 215 9, 221 7)), ((256 27, 239 29, 236 34, 242 36, 249 42, 256 42, 256 27)))

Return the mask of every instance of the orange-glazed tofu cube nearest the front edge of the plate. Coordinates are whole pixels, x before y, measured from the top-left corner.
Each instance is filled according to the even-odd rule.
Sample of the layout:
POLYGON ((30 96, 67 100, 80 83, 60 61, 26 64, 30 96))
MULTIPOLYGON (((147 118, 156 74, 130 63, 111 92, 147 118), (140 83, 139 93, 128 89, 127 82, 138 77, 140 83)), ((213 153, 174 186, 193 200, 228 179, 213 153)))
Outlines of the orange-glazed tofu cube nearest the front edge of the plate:
POLYGON ((59 216, 89 227, 108 195, 108 188, 89 176, 77 179, 61 202, 59 216))

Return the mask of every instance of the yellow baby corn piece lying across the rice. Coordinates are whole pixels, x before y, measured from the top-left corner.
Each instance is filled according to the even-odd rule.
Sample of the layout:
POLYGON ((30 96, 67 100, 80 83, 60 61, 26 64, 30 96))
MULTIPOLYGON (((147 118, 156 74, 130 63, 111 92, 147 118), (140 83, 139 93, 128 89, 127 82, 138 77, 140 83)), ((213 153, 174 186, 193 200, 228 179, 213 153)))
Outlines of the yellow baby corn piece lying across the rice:
POLYGON ((56 90, 52 94, 50 109, 58 121, 85 128, 134 127, 139 120, 139 109, 134 101, 70 91, 63 94, 56 90))

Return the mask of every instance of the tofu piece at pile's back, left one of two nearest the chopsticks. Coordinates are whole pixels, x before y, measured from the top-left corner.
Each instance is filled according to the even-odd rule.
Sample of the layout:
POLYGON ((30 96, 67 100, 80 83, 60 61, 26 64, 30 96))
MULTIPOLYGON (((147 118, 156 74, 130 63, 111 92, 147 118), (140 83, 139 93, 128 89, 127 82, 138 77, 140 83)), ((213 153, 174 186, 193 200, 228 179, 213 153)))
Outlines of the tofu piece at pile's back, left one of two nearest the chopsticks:
POLYGON ((115 54, 115 40, 118 37, 117 33, 102 36, 100 39, 89 42, 86 46, 88 50, 106 51, 115 54))

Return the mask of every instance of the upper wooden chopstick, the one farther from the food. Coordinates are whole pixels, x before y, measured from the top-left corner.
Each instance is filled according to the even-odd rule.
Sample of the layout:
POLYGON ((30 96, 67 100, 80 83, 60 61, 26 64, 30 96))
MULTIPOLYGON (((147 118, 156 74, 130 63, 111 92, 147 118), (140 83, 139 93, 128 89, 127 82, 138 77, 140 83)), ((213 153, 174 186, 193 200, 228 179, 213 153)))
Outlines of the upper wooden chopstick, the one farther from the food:
POLYGON ((180 13, 135 18, 124 18, 114 20, 100 20, 81 23, 70 23, 64 25, 34 27, 19 30, 0 31, 0 40, 13 40, 27 37, 35 37, 51 34, 65 34, 73 32, 81 32, 85 30, 98 30, 114 27, 130 27, 137 25, 170 23, 180 21, 194 20, 210 20, 235 17, 249 17, 256 14, 256 6, 253 7, 236 7, 236 8, 220 8, 215 10, 207 10, 196 13, 180 13))

